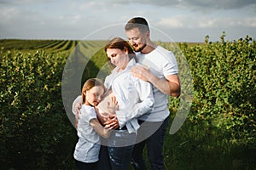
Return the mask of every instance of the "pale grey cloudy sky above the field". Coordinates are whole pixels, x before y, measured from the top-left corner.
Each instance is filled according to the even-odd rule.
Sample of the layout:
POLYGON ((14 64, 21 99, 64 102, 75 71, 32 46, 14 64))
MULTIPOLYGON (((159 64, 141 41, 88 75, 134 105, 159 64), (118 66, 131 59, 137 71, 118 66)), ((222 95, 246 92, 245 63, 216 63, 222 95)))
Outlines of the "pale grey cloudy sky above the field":
POLYGON ((256 0, 0 0, 0 38, 125 38, 134 16, 148 20, 155 41, 256 38, 256 0))

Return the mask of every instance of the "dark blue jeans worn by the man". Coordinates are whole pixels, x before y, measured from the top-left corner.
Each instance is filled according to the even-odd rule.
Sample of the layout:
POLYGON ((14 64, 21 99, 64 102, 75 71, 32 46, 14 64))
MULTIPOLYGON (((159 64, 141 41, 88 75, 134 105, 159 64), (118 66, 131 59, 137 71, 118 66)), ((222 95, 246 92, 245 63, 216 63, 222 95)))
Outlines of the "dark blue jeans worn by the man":
MULTIPOLYGON (((132 153, 132 164, 136 170, 147 170, 143 159, 143 149, 147 144, 148 161, 152 170, 164 169, 163 147, 166 136, 166 128, 168 127, 169 117, 164 122, 143 122, 144 126, 152 126, 152 123, 161 123, 160 127, 147 139, 135 144, 132 153)), ((141 126, 143 126, 143 124, 141 126)), ((140 127, 140 129, 143 129, 140 127)), ((143 133, 138 130, 137 136, 143 133)))

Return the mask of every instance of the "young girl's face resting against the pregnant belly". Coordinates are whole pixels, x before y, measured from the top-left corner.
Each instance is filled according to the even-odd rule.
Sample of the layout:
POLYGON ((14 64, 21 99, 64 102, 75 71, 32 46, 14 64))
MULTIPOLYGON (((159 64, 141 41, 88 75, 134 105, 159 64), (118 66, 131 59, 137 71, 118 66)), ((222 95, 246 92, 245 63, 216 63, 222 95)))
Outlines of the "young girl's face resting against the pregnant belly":
POLYGON ((95 86, 90 88, 90 90, 86 90, 84 92, 86 99, 85 105, 98 105, 102 99, 102 94, 104 94, 104 88, 102 86, 95 86))

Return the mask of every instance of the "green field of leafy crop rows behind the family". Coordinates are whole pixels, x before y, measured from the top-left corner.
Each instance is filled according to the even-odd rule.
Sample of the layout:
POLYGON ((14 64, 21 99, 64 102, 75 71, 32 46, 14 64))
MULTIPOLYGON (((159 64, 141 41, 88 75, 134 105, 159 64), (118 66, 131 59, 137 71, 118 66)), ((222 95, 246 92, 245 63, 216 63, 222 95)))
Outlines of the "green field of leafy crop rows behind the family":
MULTIPOLYGON (((256 169, 256 42, 156 42, 177 57, 183 93, 193 89, 189 115, 166 134, 166 169, 256 169), (192 84, 186 84, 189 77, 192 84)), ((105 41, 0 40, 0 169, 73 169, 77 142, 61 98, 70 54, 96 77, 105 41)), ((181 99, 170 97, 170 126, 181 99)), ((145 153, 146 155, 146 153, 145 153)))

